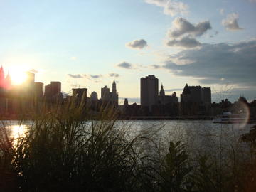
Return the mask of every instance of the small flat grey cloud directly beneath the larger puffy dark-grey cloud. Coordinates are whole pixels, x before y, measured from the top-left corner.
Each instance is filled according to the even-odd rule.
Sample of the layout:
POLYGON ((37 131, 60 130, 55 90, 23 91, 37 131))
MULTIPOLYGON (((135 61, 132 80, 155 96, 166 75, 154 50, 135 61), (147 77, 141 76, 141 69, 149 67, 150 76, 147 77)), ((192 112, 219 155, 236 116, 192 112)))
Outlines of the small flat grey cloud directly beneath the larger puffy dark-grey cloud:
POLYGON ((196 38, 184 37, 181 39, 173 39, 168 41, 167 46, 176 46, 181 48, 196 48, 201 46, 201 43, 196 38))

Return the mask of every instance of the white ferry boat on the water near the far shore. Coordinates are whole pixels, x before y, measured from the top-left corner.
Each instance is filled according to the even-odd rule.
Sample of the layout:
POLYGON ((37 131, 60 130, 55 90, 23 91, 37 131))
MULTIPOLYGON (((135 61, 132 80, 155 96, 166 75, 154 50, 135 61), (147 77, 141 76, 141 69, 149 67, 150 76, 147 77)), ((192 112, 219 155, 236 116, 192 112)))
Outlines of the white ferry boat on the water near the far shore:
POLYGON ((214 119, 213 123, 226 123, 226 124, 235 124, 235 123, 244 123, 247 122, 246 114, 232 114, 231 112, 223 112, 223 114, 218 114, 214 119))

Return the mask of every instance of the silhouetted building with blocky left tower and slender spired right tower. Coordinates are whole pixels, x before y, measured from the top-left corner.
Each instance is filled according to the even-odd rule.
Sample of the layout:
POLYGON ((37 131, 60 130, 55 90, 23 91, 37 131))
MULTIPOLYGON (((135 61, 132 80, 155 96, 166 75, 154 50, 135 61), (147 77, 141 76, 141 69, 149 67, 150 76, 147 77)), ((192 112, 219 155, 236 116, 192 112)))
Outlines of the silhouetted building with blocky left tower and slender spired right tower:
POLYGON ((110 92, 110 88, 107 86, 101 89, 101 98, 103 102, 112 102, 112 104, 118 105, 118 92, 115 81, 112 83, 112 92, 110 92))

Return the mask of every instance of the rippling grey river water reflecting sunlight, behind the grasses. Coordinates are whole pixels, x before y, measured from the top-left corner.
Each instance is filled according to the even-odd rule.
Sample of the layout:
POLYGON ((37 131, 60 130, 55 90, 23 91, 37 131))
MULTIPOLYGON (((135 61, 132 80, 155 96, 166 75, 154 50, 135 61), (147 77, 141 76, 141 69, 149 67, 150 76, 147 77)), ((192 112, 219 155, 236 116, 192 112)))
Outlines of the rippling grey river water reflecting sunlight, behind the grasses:
MULTIPOLYGON (((11 139, 23 137, 32 122, 4 121, 11 139)), ((90 124, 90 122, 89 122, 90 124)), ((248 151, 247 146, 239 140, 240 135, 250 131, 254 124, 213 124, 212 121, 117 121, 115 126, 127 130, 127 136, 134 138, 138 134, 149 138, 163 151, 169 142, 182 141, 191 154, 212 153, 227 154, 230 150, 248 151)), ((146 148, 154 149, 152 144, 146 148)))

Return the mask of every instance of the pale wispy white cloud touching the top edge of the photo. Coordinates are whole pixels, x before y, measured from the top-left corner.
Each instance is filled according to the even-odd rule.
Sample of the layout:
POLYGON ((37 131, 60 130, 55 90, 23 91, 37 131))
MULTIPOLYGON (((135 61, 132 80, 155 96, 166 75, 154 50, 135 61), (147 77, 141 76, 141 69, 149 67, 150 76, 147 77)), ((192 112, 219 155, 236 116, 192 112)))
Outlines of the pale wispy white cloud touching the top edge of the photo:
POLYGON ((148 4, 154 4, 164 8, 164 14, 175 16, 176 14, 188 14, 188 4, 173 0, 145 0, 148 4))

